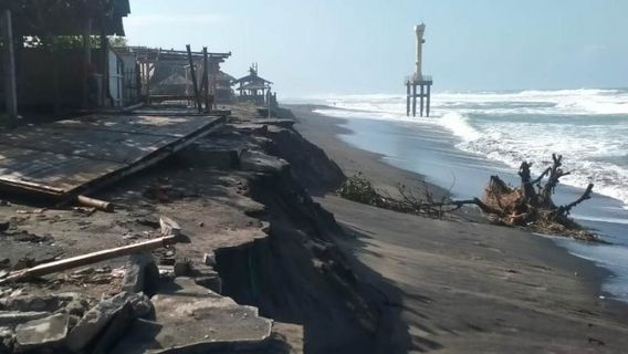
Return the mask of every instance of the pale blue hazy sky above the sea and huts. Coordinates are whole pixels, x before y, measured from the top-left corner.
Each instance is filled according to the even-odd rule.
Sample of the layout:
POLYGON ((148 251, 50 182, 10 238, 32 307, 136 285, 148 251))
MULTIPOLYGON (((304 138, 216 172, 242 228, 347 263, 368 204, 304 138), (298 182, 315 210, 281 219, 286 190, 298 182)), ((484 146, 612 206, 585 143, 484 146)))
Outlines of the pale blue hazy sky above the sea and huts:
POLYGON ((437 92, 628 87, 628 0, 130 0, 133 45, 232 52, 283 97, 404 93, 426 23, 437 92))

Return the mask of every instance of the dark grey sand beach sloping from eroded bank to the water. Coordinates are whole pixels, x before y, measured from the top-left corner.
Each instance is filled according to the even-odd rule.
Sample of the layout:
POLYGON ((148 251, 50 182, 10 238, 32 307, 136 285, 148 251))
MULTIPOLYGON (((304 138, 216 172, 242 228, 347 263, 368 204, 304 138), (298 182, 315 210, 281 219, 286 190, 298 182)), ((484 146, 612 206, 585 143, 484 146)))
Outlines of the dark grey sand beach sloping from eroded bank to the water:
MULTIPOLYGON (((421 179, 342 142, 342 119, 291 110, 346 175, 363 171, 380 188, 421 179)), ((317 200, 357 236, 343 247, 385 305, 376 353, 628 353, 628 308, 599 298, 607 272, 551 240, 317 200)))

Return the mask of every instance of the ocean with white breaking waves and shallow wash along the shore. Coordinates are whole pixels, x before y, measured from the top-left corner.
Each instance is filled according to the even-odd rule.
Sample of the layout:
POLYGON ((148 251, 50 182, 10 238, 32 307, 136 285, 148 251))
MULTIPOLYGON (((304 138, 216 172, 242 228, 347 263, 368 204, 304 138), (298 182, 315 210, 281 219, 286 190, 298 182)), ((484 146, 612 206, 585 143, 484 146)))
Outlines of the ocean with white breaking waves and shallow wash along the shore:
POLYGON ((451 189, 482 195, 491 175, 516 185, 522 160, 542 171, 552 153, 564 155, 557 202, 569 202, 589 183, 594 198, 573 211, 613 244, 553 238, 571 253, 610 270, 600 296, 628 301, 628 90, 442 92, 432 116, 407 117, 402 94, 307 97, 318 113, 346 118, 349 144, 379 153, 399 168, 451 189))

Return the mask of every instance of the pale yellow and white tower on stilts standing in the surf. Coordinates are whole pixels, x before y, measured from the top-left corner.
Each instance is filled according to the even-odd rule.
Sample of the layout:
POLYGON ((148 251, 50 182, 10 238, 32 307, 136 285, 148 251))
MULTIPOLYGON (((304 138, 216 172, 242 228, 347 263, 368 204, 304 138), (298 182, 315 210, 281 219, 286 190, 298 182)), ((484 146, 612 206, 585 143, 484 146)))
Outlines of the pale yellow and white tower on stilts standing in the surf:
POLYGON ((415 27, 415 35, 417 37, 417 59, 416 59, 416 70, 411 76, 406 79, 406 115, 410 115, 410 107, 412 111, 412 116, 417 116, 417 97, 419 98, 419 115, 423 116, 423 108, 426 116, 430 116, 430 101, 431 101, 431 76, 423 75, 422 64, 423 64, 423 43, 426 40, 423 35, 426 33, 426 25, 423 23, 415 27), (417 93, 417 86, 419 86, 419 93, 417 93))

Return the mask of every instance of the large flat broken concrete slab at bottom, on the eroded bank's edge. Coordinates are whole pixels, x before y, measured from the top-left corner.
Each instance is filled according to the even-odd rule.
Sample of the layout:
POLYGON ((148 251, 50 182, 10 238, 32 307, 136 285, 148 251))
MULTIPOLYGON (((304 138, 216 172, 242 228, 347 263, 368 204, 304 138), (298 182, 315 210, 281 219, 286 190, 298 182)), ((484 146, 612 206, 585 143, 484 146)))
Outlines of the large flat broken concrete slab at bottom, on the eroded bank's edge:
POLYGON ((113 353, 207 353, 211 350, 261 350, 266 346, 272 321, 258 309, 238 305, 177 278, 153 298, 155 321, 135 321, 113 353))

